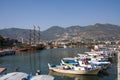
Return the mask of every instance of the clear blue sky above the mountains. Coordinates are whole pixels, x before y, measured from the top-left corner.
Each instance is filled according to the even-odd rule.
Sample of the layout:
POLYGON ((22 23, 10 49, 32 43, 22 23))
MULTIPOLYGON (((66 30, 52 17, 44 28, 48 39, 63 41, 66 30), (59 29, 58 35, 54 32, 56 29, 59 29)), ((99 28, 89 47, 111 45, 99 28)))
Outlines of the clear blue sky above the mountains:
POLYGON ((0 29, 120 25, 120 0, 0 0, 0 29))

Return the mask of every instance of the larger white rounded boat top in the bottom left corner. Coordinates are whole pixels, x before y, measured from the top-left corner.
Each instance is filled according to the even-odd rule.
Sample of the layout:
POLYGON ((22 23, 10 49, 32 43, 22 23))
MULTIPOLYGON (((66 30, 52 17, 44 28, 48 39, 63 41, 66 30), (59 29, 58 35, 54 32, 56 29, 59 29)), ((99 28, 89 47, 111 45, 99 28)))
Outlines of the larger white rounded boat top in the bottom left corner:
POLYGON ((3 75, 0 77, 0 80, 22 80, 23 78, 26 78, 26 76, 28 76, 28 74, 23 72, 12 72, 3 75))

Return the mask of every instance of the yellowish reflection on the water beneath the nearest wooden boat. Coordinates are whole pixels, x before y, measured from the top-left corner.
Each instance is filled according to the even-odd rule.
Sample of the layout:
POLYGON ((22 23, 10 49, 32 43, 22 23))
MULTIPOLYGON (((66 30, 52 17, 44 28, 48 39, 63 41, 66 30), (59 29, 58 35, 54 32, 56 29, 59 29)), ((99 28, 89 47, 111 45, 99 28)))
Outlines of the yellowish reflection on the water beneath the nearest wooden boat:
POLYGON ((60 76, 60 77, 70 77, 74 80, 99 80, 98 76, 95 75, 75 75, 75 74, 63 74, 54 71, 50 71, 49 75, 60 76))

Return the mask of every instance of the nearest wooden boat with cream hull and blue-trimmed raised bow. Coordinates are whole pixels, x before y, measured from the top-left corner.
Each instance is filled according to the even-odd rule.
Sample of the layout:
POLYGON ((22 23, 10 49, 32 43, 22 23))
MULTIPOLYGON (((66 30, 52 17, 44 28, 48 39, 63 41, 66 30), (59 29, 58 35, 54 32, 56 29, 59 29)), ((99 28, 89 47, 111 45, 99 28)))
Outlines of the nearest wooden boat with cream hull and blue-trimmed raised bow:
POLYGON ((72 68, 65 65, 52 65, 48 63, 49 70, 59 72, 59 73, 67 73, 67 74, 82 74, 82 75, 97 75, 100 71, 99 68, 95 69, 85 69, 85 67, 76 67, 72 68))

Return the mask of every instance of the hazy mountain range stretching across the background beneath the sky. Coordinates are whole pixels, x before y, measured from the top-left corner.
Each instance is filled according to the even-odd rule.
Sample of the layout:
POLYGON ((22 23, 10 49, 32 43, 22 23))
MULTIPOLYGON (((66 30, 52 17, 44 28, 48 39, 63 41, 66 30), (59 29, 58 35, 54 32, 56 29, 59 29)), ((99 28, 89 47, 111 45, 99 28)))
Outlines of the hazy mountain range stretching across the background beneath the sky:
MULTIPOLYGON (((33 33, 33 30, 32 30, 33 33)), ((38 31, 35 32, 37 34, 38 31)), ((62 28, 60 26, 52 26, 51 28, 41 31, 41 40, 75 40, 75 39, 95 39, 95 40, 117 40, 120 38, 120 26, 113 24, 100 24, 88 26, 70 26, 62 28)), ((21 41, 23 38, 25 41, 29 40, 30 30, 19 28, 1 29, 0 35, 10 37, 12 39, 18 39, 21 41)), ((32 35, 33 37, 33 35, 32 35)), ((38 37, 38 34, 37 36, 38 37)))

